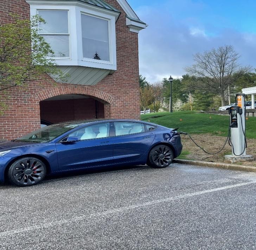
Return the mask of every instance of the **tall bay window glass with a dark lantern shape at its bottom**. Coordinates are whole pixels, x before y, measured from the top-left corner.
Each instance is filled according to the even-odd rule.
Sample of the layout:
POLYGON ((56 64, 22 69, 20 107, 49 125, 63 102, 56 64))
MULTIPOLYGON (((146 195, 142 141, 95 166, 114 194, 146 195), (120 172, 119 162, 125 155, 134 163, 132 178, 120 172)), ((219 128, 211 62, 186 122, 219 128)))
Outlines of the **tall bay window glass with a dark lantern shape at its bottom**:
POLYGON ((107 20, 82 14, 82 39, 84 58, 110 60, 107 20))

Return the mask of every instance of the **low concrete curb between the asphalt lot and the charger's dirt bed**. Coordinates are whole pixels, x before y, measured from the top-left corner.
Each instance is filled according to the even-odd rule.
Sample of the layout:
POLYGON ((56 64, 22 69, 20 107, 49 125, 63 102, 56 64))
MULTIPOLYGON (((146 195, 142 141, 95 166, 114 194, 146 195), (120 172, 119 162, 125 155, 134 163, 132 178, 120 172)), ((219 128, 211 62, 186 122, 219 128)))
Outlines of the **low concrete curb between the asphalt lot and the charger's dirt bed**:
POLYGON ((202 167, 223 168, 223 169, 232 169, 232 170, 239 170, 239 171, 256 172, 256 167, 234 165, 234 164, 229 164, 229 163, 216 163, 216 162, 180 160, 180 159, 175 159, 175 160, 173 160, 173 162, 181 163, 181 164, 202 166, 202 167))

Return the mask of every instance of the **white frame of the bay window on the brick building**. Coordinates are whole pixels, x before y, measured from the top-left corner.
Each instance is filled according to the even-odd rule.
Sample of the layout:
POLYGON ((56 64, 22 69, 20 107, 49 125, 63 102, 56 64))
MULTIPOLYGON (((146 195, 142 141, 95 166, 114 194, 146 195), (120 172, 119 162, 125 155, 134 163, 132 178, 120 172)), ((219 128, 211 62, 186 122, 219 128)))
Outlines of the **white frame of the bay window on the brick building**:
POLYGON ((68 11, 69 21, 69 58, 50 57, 55 60, 59 66, 83 66, 91 68, 100 68, 108 70, 116 70, 116 31, 115 21, 116 17, 109 13, 104 13, 103 10, 97 11, 95 8, 86 8, 81 5, 51 5, 51 4, 31 4, 30 15, 38 14, 38 11, 68 11), (81 15, 92 15, 96 18, 108 20, 109 29, 109 61, 96 60, 90 58, 83 58, 83 45, 82 45, 82 22, 81 15))

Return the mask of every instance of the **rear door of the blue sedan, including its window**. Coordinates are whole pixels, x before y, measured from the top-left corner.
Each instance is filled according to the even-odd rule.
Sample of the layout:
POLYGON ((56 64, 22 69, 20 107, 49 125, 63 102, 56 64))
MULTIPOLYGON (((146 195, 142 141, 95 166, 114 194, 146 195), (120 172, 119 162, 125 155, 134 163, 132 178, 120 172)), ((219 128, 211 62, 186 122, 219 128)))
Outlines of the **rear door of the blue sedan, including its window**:
POLYGON ((114 122, 114 162, 130 162, 139 158, 151 146, 155 135, 146 131, 144 123, 114 122))

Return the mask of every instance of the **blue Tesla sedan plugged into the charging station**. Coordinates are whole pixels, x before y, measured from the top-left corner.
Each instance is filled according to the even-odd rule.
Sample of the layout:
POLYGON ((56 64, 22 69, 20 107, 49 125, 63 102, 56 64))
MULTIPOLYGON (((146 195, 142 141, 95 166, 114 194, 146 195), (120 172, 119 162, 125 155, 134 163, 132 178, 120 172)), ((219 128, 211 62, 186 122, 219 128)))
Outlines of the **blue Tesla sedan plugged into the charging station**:
POLYGON ((136 120, 87 120, 53 124, 0 143, 0 182, 19 186, 47 174, 110 165, 165 168, 180 155, 175 129, 136 120))

